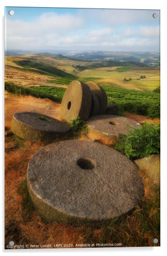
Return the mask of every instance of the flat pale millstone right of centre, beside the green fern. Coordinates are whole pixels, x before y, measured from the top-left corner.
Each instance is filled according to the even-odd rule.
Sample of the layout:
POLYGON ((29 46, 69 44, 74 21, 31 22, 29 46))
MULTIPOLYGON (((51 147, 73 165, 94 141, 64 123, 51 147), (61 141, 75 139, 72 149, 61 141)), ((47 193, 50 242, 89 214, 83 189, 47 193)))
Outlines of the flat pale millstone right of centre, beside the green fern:
POLYGON ((88 133, 93 139, 104 139, 111 144, 118 140, 118 134, 127 134, 130 127, 138 128, 140 123, 123 116, 101 115, 92 116, 87 121, 88 133), (130 127, 129 127, 130 126, 130 127))

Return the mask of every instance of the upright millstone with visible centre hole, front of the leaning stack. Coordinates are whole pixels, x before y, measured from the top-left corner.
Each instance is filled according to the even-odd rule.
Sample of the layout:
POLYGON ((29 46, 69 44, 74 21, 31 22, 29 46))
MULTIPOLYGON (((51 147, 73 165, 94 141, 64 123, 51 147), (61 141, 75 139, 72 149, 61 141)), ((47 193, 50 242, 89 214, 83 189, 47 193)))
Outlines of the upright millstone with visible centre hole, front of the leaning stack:
POLYGON ((72 81, 62 98, 60 115, 68 122, 77 117, 87 121, 91 111, 91 102, 89 86, 79 81, 72 81))

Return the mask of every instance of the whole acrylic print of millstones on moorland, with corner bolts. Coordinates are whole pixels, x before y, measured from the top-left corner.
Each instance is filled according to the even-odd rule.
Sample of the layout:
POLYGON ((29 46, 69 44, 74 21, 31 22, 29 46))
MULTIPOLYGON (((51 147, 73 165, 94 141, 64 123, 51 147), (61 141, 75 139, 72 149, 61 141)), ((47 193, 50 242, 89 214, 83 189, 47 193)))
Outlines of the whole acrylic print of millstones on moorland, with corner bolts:
POLYGON ((5 249, 160 246, 160 10, 5 13, 5 249))

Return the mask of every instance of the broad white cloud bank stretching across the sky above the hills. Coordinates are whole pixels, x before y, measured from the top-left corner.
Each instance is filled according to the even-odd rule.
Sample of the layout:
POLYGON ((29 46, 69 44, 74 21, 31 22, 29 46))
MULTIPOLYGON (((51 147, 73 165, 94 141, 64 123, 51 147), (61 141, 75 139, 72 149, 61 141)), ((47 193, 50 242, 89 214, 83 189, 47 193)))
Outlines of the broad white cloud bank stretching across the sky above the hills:
MULTIPOLYGON (((97 14, 97 10, 95 11, 97 14)), ((124 12, 122 10, 100 11, 98 10, 98 13, 101 14, 100 21, 96 23, 94 16, 91 16, 89 18, 95 23, 90 23, 90 25, 87 20, 88 13, 86 17, 79 13, 75 15, 44 13, 31 22, 7 19, 7 49, 40 50, 56 49, 56 47, 57 49, 77 48, 81 50, 145 49, 149 51, 150 49, 150 51, 156 51, 158 49, 159 26, 141 24, 134 26, 133 23, 125 25, 125 22, 139 19, 136 10, 133 15, 130 15, 130 10, 124 10, 124 12), (102 17, 111 23, 115 22, 115 25, 104 25, 101 22, 102 17), (123 22, 125 17, 126 20, 123 22), (118 22, 118 26, 116 22, 118 22), (120 22, 123 25, 120 25, 120 22), (93 29, 102 24, 103 28, 93 29)))

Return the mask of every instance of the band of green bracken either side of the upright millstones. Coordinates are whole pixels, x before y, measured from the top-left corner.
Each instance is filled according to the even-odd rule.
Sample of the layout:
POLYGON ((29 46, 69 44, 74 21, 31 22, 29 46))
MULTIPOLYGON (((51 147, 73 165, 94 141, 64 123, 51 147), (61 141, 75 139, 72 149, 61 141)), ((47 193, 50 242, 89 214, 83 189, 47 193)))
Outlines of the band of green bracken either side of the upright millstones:
MULTIPOLYGON (((128 111, 150 118, 160 117, 160 94, 137 90, 101 86, 107 94, 108 104, 118 103, 119 114, 128 111)), ((5 82, 5 89, 14 94, 32 95, 37 98, 49 98, 61 102, 65 88, 52 86, 31 86, 30 88, 17 86, 5 82)))

